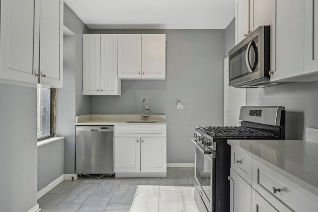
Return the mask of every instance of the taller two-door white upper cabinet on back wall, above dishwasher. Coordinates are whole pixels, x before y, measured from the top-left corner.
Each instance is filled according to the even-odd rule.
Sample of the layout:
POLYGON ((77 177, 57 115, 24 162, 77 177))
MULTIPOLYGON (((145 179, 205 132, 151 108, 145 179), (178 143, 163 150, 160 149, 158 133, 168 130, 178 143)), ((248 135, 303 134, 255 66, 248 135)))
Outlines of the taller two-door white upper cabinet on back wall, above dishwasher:
POLYGON ((83 34, 83 95, 120 95, 117 34, 83 34))

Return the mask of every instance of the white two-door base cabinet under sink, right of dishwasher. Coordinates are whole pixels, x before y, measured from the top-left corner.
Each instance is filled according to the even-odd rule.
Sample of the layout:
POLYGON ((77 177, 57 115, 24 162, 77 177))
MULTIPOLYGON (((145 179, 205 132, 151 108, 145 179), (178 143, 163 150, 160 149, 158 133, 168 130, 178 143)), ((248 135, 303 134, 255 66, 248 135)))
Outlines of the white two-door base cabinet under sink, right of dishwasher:
POLYGON ((166 176, 165 125, 119 125, 114 136, 116 177, 166 176))

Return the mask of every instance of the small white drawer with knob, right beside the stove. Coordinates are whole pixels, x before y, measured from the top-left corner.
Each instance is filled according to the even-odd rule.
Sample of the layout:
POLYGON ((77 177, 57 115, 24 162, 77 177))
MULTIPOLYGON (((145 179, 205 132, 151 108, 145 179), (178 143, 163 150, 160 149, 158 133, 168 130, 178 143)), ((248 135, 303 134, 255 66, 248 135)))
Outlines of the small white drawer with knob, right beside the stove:
POLYGON ((232 146, 231 167, 247 182, 252 184, 252 158, 232 146))

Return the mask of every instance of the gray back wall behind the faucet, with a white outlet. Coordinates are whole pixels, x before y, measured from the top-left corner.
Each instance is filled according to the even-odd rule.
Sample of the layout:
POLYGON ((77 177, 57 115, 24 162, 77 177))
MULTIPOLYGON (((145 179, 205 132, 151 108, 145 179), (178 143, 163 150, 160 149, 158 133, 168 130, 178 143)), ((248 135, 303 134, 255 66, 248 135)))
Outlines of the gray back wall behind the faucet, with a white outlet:
POLYGON ((91 114, 166 114, 167 162, 194 162, 190 139, 198 125, 223 124, 224 30, 91 30, 165 33, 166 80, 122 80, 121 96, 91 96, 91 114), (178 100, 184 104, 177 110, 178 100))

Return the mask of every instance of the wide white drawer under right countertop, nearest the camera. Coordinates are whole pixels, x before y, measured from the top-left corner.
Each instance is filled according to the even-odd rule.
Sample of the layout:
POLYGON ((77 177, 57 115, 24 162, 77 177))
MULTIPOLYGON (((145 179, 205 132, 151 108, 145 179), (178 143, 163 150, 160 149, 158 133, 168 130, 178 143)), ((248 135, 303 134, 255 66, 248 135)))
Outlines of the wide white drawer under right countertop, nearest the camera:
POLYGON ((318 198, 277 172, 253 160, 252 187, 269 203, 280 201, 295 212, 313 212, 318 198), (277 191, 275 191, 275 189, 277 191))

